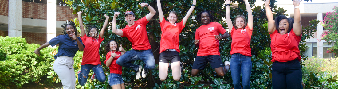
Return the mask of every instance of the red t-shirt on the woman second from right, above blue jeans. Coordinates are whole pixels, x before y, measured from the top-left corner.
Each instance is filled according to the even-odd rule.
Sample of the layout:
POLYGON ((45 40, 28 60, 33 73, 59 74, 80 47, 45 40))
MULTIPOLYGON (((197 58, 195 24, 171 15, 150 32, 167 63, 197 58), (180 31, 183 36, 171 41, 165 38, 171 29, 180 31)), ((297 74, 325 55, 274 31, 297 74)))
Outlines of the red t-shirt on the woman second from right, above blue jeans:
POLYGON ((231 51, 230 54, 240 53, 245 56, 251 57, 250 40, 252 29, 248 25, 244 29, 231 29, 231 51))

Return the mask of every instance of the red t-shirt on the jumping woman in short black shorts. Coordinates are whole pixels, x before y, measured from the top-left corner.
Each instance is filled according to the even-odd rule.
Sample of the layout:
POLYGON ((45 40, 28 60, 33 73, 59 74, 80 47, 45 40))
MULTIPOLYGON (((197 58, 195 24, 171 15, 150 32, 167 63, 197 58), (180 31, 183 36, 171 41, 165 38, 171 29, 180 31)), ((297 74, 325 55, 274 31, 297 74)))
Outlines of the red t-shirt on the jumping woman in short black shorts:
POLYGON ((163 17, 161 24, 161 45, 160 53, 167 49, 175 49, 179 53, 179 33, 182 32, 185 25, 183 21, 175 24, 170 24, 163 17))

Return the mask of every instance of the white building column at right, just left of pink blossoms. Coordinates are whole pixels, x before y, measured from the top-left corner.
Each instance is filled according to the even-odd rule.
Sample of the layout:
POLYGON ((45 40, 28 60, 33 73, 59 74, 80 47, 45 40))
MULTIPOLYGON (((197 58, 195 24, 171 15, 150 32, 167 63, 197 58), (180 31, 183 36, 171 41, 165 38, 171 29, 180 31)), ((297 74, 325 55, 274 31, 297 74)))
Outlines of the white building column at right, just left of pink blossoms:
MULTIPOLYGON (((317 20, 322 21, 323 20, 323 13, 317 13, 317 20)), ((323 26, 318 23, 317 26, 317 39, 320 38, 320 35, 323 34, 323 26)), ((317 40, 317 53, 318 58, 323 58, 323 40, 318 41, 317 40)))

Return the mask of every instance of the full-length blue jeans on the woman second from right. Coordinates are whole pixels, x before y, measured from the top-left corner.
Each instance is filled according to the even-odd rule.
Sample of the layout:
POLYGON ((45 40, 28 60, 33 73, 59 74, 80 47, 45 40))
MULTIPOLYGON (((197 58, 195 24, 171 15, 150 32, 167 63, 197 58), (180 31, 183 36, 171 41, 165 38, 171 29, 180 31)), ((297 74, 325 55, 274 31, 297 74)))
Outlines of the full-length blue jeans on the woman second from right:
POLYGON ((240 78, 242 75, 243 89, 250 89, 250 75, 251 75, 251 57, 239 53, 231 56, 231 77, 233 78, 234 88, 242 89, 240 78))

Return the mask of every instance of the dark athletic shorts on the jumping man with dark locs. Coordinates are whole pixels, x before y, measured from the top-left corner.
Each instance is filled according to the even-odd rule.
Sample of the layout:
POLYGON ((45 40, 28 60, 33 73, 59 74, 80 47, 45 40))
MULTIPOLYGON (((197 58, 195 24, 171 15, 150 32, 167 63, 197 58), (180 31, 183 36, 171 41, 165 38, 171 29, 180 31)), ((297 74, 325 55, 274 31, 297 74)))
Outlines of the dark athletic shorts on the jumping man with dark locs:
POLYGON ((208 56, 196 56, 195 62, 192 65, 192 69, 204 69, 207 63, 210 63, 212 68, 223 67, 221 56, 219 55, 208 55, 208 56))

